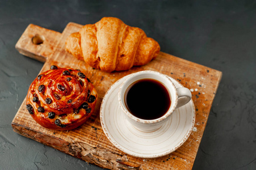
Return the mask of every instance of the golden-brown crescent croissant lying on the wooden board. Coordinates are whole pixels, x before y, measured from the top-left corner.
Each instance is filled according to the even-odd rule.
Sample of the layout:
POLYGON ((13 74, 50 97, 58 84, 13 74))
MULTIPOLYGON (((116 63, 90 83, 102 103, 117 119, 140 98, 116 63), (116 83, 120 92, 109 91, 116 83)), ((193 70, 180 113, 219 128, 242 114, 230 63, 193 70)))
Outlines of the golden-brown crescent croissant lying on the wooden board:
POLYGON ((111 72, 145 65, 157 57, 160 45, 142 29, 104 17, 68 36, 65 49, 95 69, 111 72))

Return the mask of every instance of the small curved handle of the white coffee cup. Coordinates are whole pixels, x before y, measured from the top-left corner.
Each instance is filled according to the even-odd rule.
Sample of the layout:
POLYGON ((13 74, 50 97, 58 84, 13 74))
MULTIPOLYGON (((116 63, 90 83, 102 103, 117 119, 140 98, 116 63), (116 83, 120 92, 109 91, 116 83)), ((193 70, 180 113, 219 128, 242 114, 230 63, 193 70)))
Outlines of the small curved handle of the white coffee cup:
POLYGON ((191 100, 192 95, 190 90, 186 87, 176 88, 176 90, 178 92, 178 104, 176 108, 179 108, 187 104, 188 101, 191 100))

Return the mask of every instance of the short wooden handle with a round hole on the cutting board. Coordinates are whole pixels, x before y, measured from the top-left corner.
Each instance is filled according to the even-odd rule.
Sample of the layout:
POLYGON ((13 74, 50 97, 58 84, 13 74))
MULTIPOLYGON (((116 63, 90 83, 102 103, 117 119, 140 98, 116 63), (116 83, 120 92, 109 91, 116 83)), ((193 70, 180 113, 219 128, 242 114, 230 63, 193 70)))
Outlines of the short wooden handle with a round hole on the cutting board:
POLYGON ((23 32, 15 48, 24 56, 45 62, 54 52, 61 33, 30 24, 23 32))

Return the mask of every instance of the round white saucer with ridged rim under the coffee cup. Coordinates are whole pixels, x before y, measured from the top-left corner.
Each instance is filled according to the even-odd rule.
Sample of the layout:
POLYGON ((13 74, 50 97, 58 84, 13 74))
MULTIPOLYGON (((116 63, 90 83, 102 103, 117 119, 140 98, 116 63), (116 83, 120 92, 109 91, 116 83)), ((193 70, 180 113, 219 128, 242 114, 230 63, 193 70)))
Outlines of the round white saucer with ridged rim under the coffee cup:
MULTIPOLYGON (((119 150, 140 158, 157 158, 177 150, 190 136, 195 124, 195 107, 192 100, 174 111, 160 129, 145 133, 125 120, 119 107, 118 91, 125 76, 107 91, 100 107, 100 122, 110 142, 119 150)), ((182 87, 170 78, 176 87, 182 87)))

